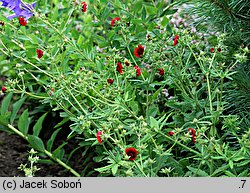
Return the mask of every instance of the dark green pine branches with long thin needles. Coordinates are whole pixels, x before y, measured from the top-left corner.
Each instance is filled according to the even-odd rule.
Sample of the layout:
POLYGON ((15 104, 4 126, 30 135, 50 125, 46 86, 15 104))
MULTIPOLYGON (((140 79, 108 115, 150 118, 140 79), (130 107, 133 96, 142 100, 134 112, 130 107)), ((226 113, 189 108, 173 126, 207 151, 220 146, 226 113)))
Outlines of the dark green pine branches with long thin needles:
POLYGON ((233 83, 228 88, 225 100, 228 114, 237 114, 242 119, 242 128, 249 125, 249 42, 250 2, 244 0, 193 0, 188 3, 185 13, 195 15, 193 26, 199 30, 212 30, 214 34, 225 33, 224 44, 229 50, 227 60, 240 61, 234 68, 233 83), (205 25, 204 25, 205 24, 205 25))

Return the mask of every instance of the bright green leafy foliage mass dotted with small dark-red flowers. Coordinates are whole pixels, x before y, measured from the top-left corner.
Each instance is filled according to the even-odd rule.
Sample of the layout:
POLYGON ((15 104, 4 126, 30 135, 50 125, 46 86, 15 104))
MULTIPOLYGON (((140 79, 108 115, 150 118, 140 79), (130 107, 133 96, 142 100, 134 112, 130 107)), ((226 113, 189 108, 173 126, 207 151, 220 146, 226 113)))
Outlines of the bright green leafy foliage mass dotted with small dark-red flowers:
POLYGON ((238 117, 225 112, 239 61, 228 59, 224 34, 204 40, 174 28, 176 3, 166 1, 92 0, 85 13, 77 1, 58 3, 39 2, 25 27, 6 21, 1 51, 16 74, 6 86, 25 98, 8 112, 5 96, 0 121, 76 176, 249 176, 249 130, 239 134, 238 117), (26 99, 60 114, 47 141, 47 113, 20 110, 26 99), (76 172, 70 165, 79 150, 86 167, 76 172))

